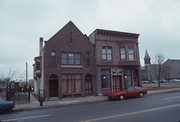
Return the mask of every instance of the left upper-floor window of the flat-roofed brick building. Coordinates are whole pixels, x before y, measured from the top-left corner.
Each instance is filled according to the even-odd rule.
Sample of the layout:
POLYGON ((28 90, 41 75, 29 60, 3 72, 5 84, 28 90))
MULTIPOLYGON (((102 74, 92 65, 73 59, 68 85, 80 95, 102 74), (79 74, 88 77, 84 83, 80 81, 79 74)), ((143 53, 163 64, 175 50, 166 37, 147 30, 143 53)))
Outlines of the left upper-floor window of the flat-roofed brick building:
POLYGON ((102 59, 107 61, 112 60, 112 47, 102 47, 102 59))

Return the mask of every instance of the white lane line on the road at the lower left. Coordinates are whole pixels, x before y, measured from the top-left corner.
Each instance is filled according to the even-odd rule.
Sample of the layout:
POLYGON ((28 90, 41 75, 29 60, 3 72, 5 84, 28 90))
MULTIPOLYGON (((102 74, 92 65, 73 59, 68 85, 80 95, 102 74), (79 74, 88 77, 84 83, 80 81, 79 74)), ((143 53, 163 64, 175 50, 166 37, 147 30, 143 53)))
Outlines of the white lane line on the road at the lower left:
POLYGON ((49 116, 51 116, 51 115, 50 115, 50 114, 47 114, 47 115, 40 115, 40 116, 21 117, 21 118, 7 119, 7 120, 1 120, 1 121, 2 121, 2 122, 6 122, 6 121, 16 121, 16 120, 35 119, 35 118, 42 118, 42 117, 49 117, 49 116))

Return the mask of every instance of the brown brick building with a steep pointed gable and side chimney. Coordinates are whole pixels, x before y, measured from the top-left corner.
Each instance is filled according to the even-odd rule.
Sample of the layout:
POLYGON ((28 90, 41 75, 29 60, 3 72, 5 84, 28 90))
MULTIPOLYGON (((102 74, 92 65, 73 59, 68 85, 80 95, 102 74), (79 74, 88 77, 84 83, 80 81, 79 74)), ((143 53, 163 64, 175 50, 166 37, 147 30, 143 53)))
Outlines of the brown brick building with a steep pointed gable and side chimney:
POLYGON ((40 38, 35 62, 34 78, 45 98, 95 95, 94 47, 71 21, 44 47, 40 38))

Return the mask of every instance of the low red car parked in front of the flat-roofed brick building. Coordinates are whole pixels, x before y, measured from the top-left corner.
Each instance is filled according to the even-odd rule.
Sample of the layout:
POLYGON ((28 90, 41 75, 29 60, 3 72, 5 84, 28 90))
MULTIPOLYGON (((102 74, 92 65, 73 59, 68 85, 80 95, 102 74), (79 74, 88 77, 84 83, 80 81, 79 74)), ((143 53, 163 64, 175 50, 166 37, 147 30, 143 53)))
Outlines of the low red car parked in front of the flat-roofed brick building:
POLYGON ((114 92, 108 95, 109 100, 124 100, 132 97, 144 97, 147 89, 140 87, 129 87, 127 90, 114 92))

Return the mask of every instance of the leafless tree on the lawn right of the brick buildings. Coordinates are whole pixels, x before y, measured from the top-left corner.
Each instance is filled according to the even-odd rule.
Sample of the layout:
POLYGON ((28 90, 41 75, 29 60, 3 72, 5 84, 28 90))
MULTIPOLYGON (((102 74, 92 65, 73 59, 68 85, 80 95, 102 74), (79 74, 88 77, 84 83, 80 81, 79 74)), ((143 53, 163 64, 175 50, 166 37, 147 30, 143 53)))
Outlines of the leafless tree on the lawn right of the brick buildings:
POLYGON ((168 73, 168 67, 163 65, 165 56, 162 53, 157 53, 154 55, 153 60, 153 72, 155 79, 158 81, 158 87, 160 87, 160 80, 164 78, 168 73))

